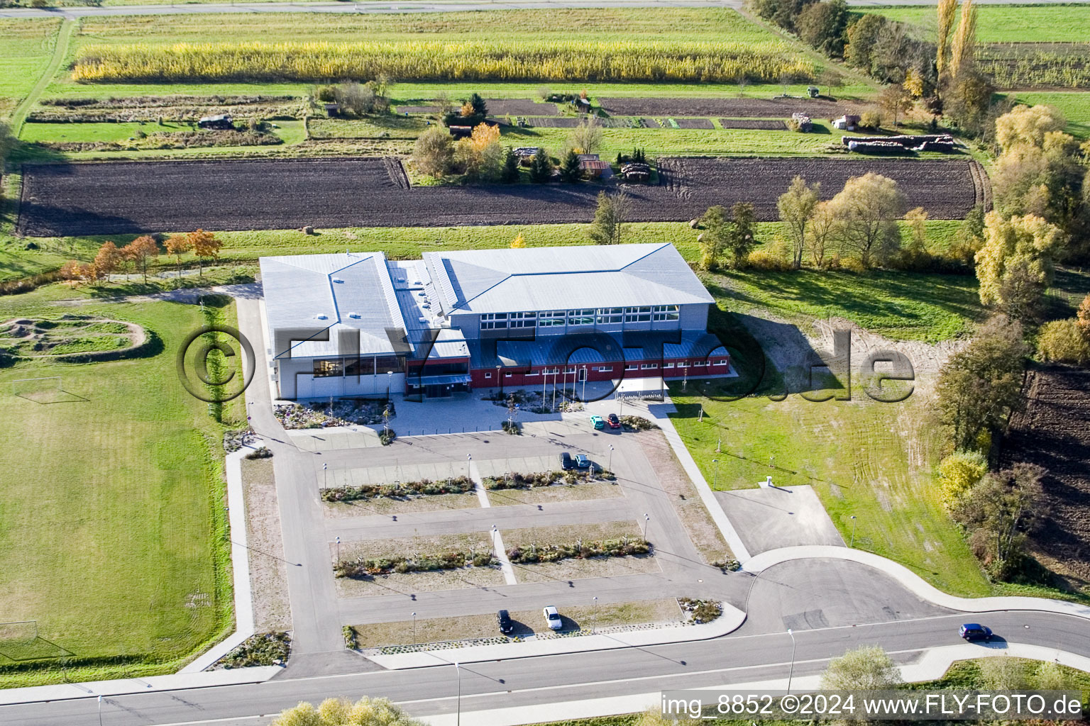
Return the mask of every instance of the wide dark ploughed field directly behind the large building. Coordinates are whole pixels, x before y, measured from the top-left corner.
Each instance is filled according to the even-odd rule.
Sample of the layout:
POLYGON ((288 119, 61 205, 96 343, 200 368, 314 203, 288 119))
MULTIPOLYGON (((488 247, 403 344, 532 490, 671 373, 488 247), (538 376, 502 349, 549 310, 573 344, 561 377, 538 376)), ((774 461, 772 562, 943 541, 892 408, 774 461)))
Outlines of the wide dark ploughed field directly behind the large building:
MULTIPOLYGON (((752 201, 776 219, 796 174, 835 194, 849 176, 896 180, 910 207, 958 219, 979 196, 967 161, 889 159, 659 160, 657 185, 626 186, 632 221, 685 221, 752 201)), ((104 162, 26 165, 19 233, 28 236, 313 225, 429 226, 589 222, 601 184, 404 188, 396 159, 104 162)))

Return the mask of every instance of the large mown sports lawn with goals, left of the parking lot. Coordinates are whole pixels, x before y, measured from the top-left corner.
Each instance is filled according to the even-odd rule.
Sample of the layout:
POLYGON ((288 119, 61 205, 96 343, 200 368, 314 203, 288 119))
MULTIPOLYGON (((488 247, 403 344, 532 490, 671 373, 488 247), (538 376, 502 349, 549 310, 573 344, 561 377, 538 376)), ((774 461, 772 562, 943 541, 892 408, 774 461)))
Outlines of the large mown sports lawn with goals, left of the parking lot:
MULTIPOLYGON (((144 325, 164 349, 0 371, 0 557, 10 564, 0 573, 0 612, 36 620, 39 638, 0 643, 0 687, 60 682, 60 656, 70 680, 169 673, 230 629, 223 427, 174 371, 177 346, 202 324, 201 311, 53 302, 85 295, 55 285, 2 297, 0 317, 101 315, 144 325), (12 394, 14 380, 55 376, 70 401, 12 394)), ((209 309, 233 317, 233 307, 209 309)))

